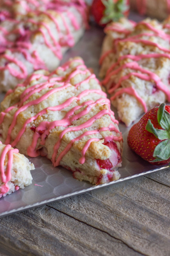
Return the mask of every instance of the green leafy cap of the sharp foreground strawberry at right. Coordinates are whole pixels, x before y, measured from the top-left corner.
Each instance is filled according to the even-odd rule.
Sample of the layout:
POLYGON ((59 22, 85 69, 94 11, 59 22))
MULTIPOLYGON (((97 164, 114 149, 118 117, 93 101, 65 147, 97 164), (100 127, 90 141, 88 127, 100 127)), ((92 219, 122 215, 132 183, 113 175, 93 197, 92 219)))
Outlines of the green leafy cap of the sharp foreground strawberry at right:
POLYGON ((157 120, 162 129, 154 128, 151 120, 148 120, 146 130, 153 133, 156 138, 162 140, 153 153, 152 162, 163 161, 170 158, 170 114, 165 110, 165 103, 162 103, 157 111, 157 120))

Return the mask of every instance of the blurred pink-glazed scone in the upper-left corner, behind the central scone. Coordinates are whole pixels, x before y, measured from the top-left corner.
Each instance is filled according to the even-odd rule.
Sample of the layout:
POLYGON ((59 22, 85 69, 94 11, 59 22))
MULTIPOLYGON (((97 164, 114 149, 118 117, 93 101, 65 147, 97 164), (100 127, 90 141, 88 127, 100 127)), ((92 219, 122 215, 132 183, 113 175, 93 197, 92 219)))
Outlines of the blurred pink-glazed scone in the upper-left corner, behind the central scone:
POLYGON ((27 1, 13 2, 11 12, 1 12, 0 91, 14 88, 35 70, 55 70, 87 26, 84 1, 48 1, 45 10, 28 7, 24 14, 18 5, 27 1))

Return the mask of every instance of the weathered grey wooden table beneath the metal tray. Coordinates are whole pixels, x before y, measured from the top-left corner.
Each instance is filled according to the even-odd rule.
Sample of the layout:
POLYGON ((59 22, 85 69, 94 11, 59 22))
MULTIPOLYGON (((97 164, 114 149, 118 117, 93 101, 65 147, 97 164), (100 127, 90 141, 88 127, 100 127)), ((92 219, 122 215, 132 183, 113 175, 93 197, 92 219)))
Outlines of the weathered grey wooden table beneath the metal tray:
POLYGON ((0 255, 170 255, 170 169, 0 218, 0 255))

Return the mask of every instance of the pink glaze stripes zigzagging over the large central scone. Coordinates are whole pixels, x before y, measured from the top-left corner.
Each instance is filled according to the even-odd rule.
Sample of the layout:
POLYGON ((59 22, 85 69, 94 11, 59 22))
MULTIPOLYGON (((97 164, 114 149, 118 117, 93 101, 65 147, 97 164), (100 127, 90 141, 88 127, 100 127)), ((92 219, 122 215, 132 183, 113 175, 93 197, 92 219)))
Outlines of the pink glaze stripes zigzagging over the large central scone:
MULTIPOLYGON (((78 59, 78 61, 79 61, 79 59, 78 59)), ((65 64, 63 67, 58 68, 58 70, 62 69, 64 71, 65 69, 67 69, 69 67, 70 63, 71 63, 71 60, 68 61, 67 64, 65 64)), ((86 70, 79 70, 79 68, 85 68, 84 63, 82 62, 82 60, 81 60, 81 65, 77 66, 75 68, 75 70, 67 77, 66 80, 65 80, 64 77, 56 77, 56 76, 51 77, 51 74, 49 76, 44 76, 44 75, 40 75, 40 74, 33 74, 31 77, 28 77, 28 79, 23 83, 23 85, 20 85, 20 86, 27 86, 31 83, 31 81, 33 81, 34 79, 38 80, 38 79, 40 79, 40 77, 43 77, 47 81, 47 82, 41 82, 39 84, 28 87, 20 95, 20 102, 18 102, 14 106, 9 107, 8 109, 6 109, 4 112, 1 113, 0 123, 3 122, 4 116, 11 109, 17 108, 16 112, 14 114, 11 126, 8 129, 7 138, 6 138, 6 141, 5 141, 6 144, 11 141, 11 132, 12 132, 13 128, 16 125, 17 116, 22 111, 27 110, 30 106, 37 105, 38 103, 47 99, 50 95, 54 94, 55 92, 63 90, 63 89, 67 89, 68 87, 72 86, 69 83, 70 79, 72 79, 72 77, 77 75, 78 73, 82 73, 84 75, 86 74, 86 76, 87 76, 89 71, 87 69, 86 70), (57 88, 53 88, 53 86, 56 83, 60 83, 61 86, 57 87, 57 88), (32 100, 30 102, 26 102, 29 99, 29 97, 32 96, 34 93, 40 93, 41 90, 43 90, 45 88, 51 88, 51 90, 49 90, 44 95, 40 96, 38 99, 32 100)), ((55 73, 55 72, 53 72, 53 73, 55 73)), ((56 71, 56 73, 57 73, 57 71, 56 71)), ((82 81, 81 83, 79 82, 78 84, 74 85, 74 90, 79 89, 79 87, 81 87, 83 85, 83 83, 89 82, 89 79, 96 79, 96 77, 94 76, 94 74, 89 74, 89 76, 84 81, 82 81)), ((62 126, 62 127, 65 127, 65 129, 60 133, 59 139, 58 139, 57 143, 54 145, 54 153, 52 155, 52 162, 53 162, 54 166, 60 165, 61 159, 70 150, 72 144, 75 141, 83 139, 83 137, 85 137, 85 136, 100 133, 102 131, 107 131, 107 130, 115 131, 115 132, 119 133, 119 130, 112 123, 109 125, 109 127, 102 127, 99 130, 90 130, 90 131, 85 130, 82 133, 81 136, 71 140, 70 143, 68 143, 66 148, 63 150, 63 152, 61 152, 60 155, 57 156, 58 148, 60 147, 60 145, 62 143, 62 138, 67 132, 69 132, 69 131, 80 131, 81 129, 86 129, 86 128, 90 127, 95 122, 96 119, 101 118, 103 115, 109 115, 111 117, 112 122, 118 124, 118 121, 115 120, 114 112, 111 111, 111 109, 110 109, 110 101, 106 98, 106 94, 101 89, 91 89, 91 90, 86 89, 86 90, 82 91, 81 93, 79 93, 77 96, 73 96, 73 97, 70 97, 70 98, 66 99, 66 101, 64 103, 62 103, 60 105, 56 105, 56 106, 47 107, 47 108, 41 110, 35 116, 32 116, 32 117, 28 118, 24 122, 21 130, 18 132, 18 135, 16 136, 15 140, 12 142, 12 146, 14 147, 14 146, 17 145, 17 143, 20 141, 20 138, 21 138, 22 134, 24 133, 24 131, 28 127, 27 125, 30 124, 31 122, 33 122, 34 120, 36 120, 38 116, 46 114, 47 111, 61 111, 61 110, 65 109, 66 107, 68 107, 73 101, 75 101, 75 102, 76 101, 81 101, 81 99, 83 97, 89 95, 90 93, 99 94, 101 96, 101 98, 96 100, 96 102, 94 102, 92 100, 88 100, 88 101, 84 101, 80 105, 74 106, 72 109, 70 109, 66 113, 64 118, 61 119, 61 120, 56 120, 56 121, 53 121, 53 122, 43 121, 37 127, 30 127, 30 129, 32 131, 34 131, 34 134, 33 134, 32 144, 27 149, 27 154, 31 157, 36 157, 36 156, 40 155, 40 151, 36 149, 37 140, 40 139, 40 144, 44 145, 46 137, 49 135, 50 131, 55 127, 62 126), (107 109, 101 110, 99 113, 92 116, 85 123, 83 123, 81 125, 78 125, 78 126, 73 126, 74 120, 77 120, 77 119, 81 118, 83 115, 88 114, 90 112, 90 110, 97 104, 107 105, 107 109), (83 108, 83 107, 85 107, 85 108, 83 108), (82 110, 79 113, 74 114, 74 112, 76 110, 80 110, 81 108, 82 108, 82 110), (57 159, 56 159, 56 156, 57 156, 57 159)), ((109 136, 108 139, 109 140, 114 139, 115 141, 121 141, 122 140, 122 135, 120 133, 119 137, 118 136, 109 136)), ((82 152, 81 152, 82 153, 82 158, 80 160, 81 163, 84 162, 85 153, 88 150, 88 147, 89 147, 89 145, 92 141, 98 141, 98 139, 91 138, 90 140, 88 140, 88 143, 85 144, 85 146, 83 147, 82 152)), ((105 138, 105 141, 106 141, 106 138, 105 138)))

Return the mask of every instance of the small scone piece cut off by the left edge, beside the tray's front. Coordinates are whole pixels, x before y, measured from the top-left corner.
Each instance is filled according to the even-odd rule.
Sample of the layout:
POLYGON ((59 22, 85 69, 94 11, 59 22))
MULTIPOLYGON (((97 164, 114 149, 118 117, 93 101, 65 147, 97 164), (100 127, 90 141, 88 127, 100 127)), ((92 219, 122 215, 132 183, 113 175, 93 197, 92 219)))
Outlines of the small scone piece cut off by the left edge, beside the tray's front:
POLYGON ((32 183, 33 163, 18 153, 17 148, 0 143, 0 197, 32 183))

